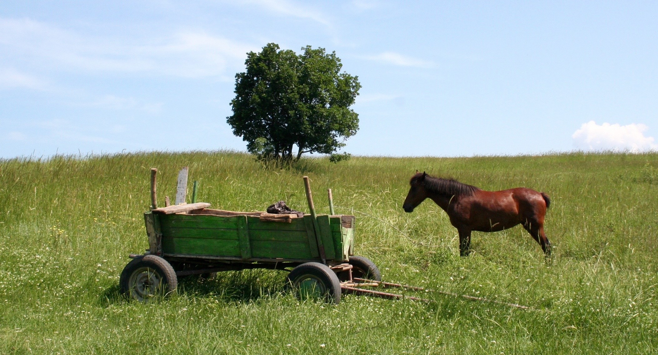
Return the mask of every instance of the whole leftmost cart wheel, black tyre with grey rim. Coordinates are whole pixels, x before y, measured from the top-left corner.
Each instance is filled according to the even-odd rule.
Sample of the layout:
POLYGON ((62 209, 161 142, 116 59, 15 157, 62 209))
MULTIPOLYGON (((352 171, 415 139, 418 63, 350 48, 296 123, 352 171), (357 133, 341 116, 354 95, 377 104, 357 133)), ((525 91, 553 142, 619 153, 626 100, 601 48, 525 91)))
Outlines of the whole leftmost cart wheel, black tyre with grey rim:
POLYGON ((153 296, 176 293, 178 279, 174 268, 163 258, 155 255, 140 256, 126 265, 119 281, 124 295, 148 302, 153 296))

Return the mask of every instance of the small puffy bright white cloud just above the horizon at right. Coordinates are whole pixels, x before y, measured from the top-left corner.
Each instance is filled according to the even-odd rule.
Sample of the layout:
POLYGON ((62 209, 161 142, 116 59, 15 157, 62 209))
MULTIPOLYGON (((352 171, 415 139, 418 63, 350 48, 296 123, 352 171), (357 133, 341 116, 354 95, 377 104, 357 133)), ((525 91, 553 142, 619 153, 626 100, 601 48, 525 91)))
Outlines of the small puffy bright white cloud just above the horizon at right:
POLYGON ((604 123, 601 125, 590 121, 582 124, 571 137, 574 147, 585 151, 630 151, 638 153, 641 151, 658 150, 658 145, 653 143, 653 137, 646 137, 644 132, 649 128, 644 124, 619 124, 604 123))

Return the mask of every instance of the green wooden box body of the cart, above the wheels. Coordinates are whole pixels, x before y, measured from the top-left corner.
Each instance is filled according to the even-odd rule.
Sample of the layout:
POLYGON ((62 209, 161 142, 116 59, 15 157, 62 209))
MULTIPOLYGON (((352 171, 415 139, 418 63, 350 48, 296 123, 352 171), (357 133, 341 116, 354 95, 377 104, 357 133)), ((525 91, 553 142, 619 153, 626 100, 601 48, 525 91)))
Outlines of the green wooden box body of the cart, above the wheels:
POLYGON ((326 260, 349 260, 354 216, 320 214, 316 216, 320 235, 316 235, 309 214, 303 218, 280 215, 288 216, 282 218, 265 212, 198 208, 209 206, 203 202, 196 205, 157 208, 144 214, 151 254, 245 262, 311 262, 320 260, 319 239, 326 260), (180 212, 167 213, 173 210, 180 212))

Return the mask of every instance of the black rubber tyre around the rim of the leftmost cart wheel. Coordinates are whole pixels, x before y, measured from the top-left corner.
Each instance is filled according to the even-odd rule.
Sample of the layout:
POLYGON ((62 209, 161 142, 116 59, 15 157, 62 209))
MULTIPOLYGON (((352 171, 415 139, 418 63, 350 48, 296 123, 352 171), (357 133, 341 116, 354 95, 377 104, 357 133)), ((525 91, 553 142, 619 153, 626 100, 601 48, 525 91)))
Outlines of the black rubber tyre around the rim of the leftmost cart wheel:
POLYGON ((138 300, 142 302, 148 302, 148 299, 139 300, 135 298, 130 292, 130 277, 134 272, 139 268, 151 268, 158 273, 161 278, 161 285, 159 291, 157 292, 160 296, 167 296, 173 293, 176 293, 176 287, 178 287, 178 279, 176 278, 176 272, 166 260, 156 255, 145 255, 138 256, 131 260, 124 270, 121 272, 121 277, 119 279, 119 287, 121 293, 126 295, 128 298, 133 300, 138 300))

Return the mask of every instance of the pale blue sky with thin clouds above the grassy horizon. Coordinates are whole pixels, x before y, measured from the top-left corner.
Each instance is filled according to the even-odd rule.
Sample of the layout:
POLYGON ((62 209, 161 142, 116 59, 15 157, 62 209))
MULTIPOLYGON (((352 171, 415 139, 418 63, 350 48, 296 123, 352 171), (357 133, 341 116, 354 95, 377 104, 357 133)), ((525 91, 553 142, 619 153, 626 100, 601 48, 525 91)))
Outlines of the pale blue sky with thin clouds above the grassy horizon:
POLYGON ((0 2, 0 158, 235 149, 266 43, 336 51, 356 155, 658 149, 655 1, 0 2))

